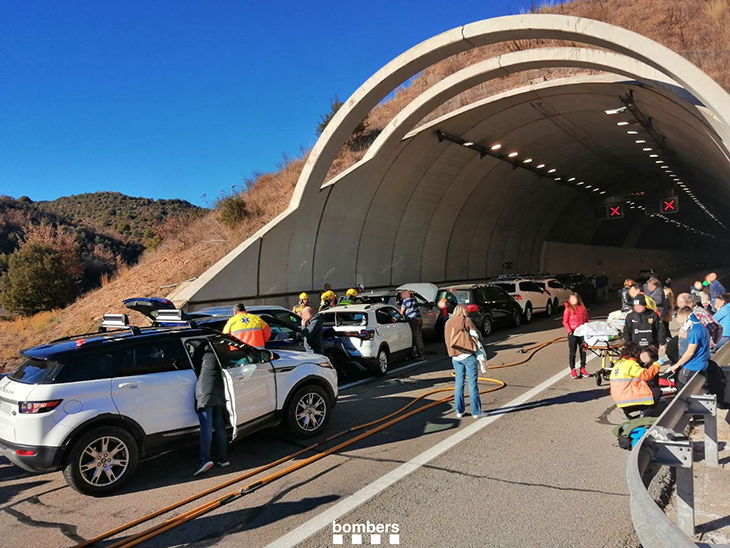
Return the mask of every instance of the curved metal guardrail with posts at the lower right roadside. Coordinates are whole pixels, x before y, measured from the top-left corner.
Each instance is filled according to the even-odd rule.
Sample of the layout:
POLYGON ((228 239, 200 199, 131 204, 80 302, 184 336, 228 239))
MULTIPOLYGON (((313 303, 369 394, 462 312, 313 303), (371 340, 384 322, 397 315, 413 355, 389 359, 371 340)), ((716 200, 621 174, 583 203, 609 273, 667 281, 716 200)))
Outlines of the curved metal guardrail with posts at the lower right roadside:
MULTIPOLYGON (((730 345, 718 352, 713 359, 722 360, 719 363, 727 363, 727 358, 730 358, 728 350, 730 345)), ((650 435, 657 426, 682 432, 691 417, 704 415, 705 464, 718 466, 717 403, 714 395, 704 393, 704 385, 705 377, 695 374, 631 450, 626 466, 631 519, 644 548, 710 546, 705 543, 697 544, 693 540, 695 511, 692 441, 658 441, 650 435), (644 473, 651 464, 667 465, 676 470, 676 524, 657 506, 644 484, 644 473)))

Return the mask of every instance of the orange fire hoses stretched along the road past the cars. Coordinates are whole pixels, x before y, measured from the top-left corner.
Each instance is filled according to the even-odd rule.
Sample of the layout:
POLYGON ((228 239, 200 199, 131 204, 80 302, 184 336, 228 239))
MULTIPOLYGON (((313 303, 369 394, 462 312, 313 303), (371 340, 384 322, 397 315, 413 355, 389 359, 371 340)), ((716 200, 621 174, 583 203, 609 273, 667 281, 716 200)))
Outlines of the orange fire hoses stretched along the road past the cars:
MULTIPOLYGON (((530 361, 537 352, 540 350, 550 346, 551 344, 557 343, 557 342, 564 342, 566 340, 565 337, 558 337, 555 339, 552 339, 550 341, 542 342, 536 345, 533 345, 531 347, 528 347, 526 349, 523 349, 521 352, 526 353, 527 356, 517 362, 513 363, 507 363, 507 364, 500 364, 500 365, 494 365, 490 366, 490 369, 502 369, 506 367, 515 367, 518 365, 522 365, 530 361)), ((484 390, 481 390, 480 394, 487 394, 489 392, 495 392, 497 390, 500 390, 506 386, 506 383, 503 381, 500 381, 498 379, 493 379, 489 377, 479 377, 479 381, 481 382, 489 382, 493 383, 494 386, 486 388, 484 390)), ((173 504, 170 504, 169 506, 166 506, 164 508, 161 508, 159 510, 156 510, 150 514, 147 514, 145 516, 142 516, 136 520, 130 521, 128 523, 125 523, 124 525, 120 525, 119 527, 116 527, 114 529, 111 529, 105 533, 102 533, 101 535, 98 535, 96 537, 93 537, 89 540, 86 540, 76 546, 76 548, 84 548, 87 546, 92 546, 96 544, 97 542, 100 542, 102 540, 108 539, 110 537, 113 537, 115 535, 118 535, 119 533, 122 533, 124 531, 127 531, 133 527, 137 527, 138 525, 141 525, 142 523, 145 523, 149 520, 152 520, 154 518, 157 518, 159 516, 162 516, 164 514, 167 514, 169 512, 172 512, 173 510, 176 510, 177 508, 180 508, 182 506, 186 506, 192 502, 195 502, 196 500, 199 500, 203 497, 206 497, 208 495, 211 495, 213 493, 216 493, 218 491, 221 491, 225 489, 226 487, 230 487, 232 485, 235 485, 237 483, 241 483, 249 478, 252 478, 254 476, 257 476, 263 472, 266 472, 268 470, 271 470, 272 468, 275 468, 281 464, 284 464, 286 462, 289 462, 307 452, 313 451, 327 443, 330 443, 334 441, 335 439, 341 438, 347 434, 351 434, 354 432, 358 432, 361 430, 366 430, 370 428, 370 430, 366 430, 365 432, 358 434, 357 436, 354 436, 344 442, 341 442, 329 449, 325 449, 323 451, 320 451, 310 457, 307 457, 295 464, 291 464, 287 466, 286 468, 283 468, 282 470, 279 470, 277 472, 274 472, 272 474, 269 474, 268 476, 265 476, 261 479, 258 479, 252 483, 249 483, 239 489, 236 489, 234 491, 228 492, 225 495, 221 495, 211 501, 208 501, 200 506, 197 506, 195 508, 192 508, 191 510, 188 510, 182 514, 179 514, 177 516, 173 516, 172 518, 163 521, 157 525, 154 525, 152 527, 149 527, 145 529, 144 531, 141 531, 139 533, 136 533, 130 537, 127 537, 125 539, 121 539, 118 542, 115 542, 111 545, 108 545, 107 548, 130 548, 132 546, 136 546, 142 542, 145 542, 146 540, 149 540, 153 537, 156 537, 158 535, 161 535, 162 533, 169 531, 171 529, 174 529, 175 527, 178 527, 184 523, 187 523, 188 521, 191 521, 193 519, 196 519, 204 514, 207 514, 217 508, 220 508, 226 504, 229 504, 235 500, 238 500, 244 496, 246 496, 249 493, 252 493, 254 491, 257 491, 258 489, 261 489, 262 487, 269 485, 273 482, 275 482, 278 479, 281 479, 293 472, 296 472, 297 470, 301 470, 302 468, 309 466, 310 464, 317 462, 319 460, 324 459, 325 457, 332 455, 333 453, 336 453, 342 449, 345 449, 346 447, 349 447, 369 436, 372 436, 382 430, 385 430, 386 428, 397 424, 409 417, 412 417, 413 415, 416 415, 418 413, 421 413, 422 411, 425 411, 427 409, 431 409, 432 407, 436 407, 438 405, 443 405, 445 403, 450 402, 454 399, 453 394, 449 394, 448 396, 445 396, 443 398, 430 401, 426 405, 422 405, 421 407, 418 407, 416 409, 409 409, 413 407, 416 403, 418 403, 421 400, 424 400, 425 398, 428 398, 429 396, 432 396, 434 394, 439 394, 443 392, 453 392, 453 388, 438 388, 436 390, 430 390, 428 392, 425 392, 424 394, 421 394, 420 396, 417 396, 413 398, 410 402, 408 402, 406 405, 401 407, 400 409, 389 413, 385 415, 384 417, 381 417, 379 419, 376 419, 374 421, 366 422, 363 424, 359 424, 356 426, 353 426, 351 428, 348 428, 347 430, 343 430, 341 432, 338 432, 336 434, 333 434, 326 438, 324 441, 314 443, 312 445, 309 445, 308 447, 302 448, 299 451, 296 451, 290 455, 286 455, 280 459, 277 459, 273 462, 270 462, 269 464, 266 464, 264 466, 261 466, 259 468, 256 468, 254 470, 250 470, 244 474, 241 474, 239 476, 236 476, 234 478, 231 478, 230 480, 227 480, 225 482, 222 482, 216 486, 213 486, 209 489, 206 489, 204 491, 201 491, 200 493, 196 493, 195 495, 192 495, 188 498, 179 500, 173 504), (372 427, 372 428, 371 428, 372 427)))

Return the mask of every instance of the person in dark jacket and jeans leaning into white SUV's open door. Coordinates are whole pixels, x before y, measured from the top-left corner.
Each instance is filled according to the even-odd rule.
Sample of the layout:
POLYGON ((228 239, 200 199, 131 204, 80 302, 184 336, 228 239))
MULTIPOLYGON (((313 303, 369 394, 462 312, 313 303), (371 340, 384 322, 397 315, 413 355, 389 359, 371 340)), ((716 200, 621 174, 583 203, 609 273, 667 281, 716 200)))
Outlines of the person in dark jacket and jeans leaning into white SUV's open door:
POLYGON ((193 474, 197 476, 213 468, 210 446, 214 428, 218 466, 225 468, 230 463, 227 458, 226 390, 221 366, 210 343, 205 342, 198 348, 193 362, 199 365, 198 380, 195 383, 195 411, 200 421, 200 450, 198 466, 193 474))

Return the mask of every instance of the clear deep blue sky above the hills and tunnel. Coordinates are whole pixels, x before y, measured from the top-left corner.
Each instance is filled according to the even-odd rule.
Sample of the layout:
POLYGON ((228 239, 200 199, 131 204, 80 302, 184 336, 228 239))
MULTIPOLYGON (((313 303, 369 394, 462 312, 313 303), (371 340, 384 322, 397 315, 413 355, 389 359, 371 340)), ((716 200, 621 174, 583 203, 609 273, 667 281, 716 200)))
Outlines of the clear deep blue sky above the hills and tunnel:
POLYGON ((315 142, 409 47, 529 0, 8 2, 0 194, 114 190, 206 205, 315 142), (203 198, 203 196, 207 198, 203 198))

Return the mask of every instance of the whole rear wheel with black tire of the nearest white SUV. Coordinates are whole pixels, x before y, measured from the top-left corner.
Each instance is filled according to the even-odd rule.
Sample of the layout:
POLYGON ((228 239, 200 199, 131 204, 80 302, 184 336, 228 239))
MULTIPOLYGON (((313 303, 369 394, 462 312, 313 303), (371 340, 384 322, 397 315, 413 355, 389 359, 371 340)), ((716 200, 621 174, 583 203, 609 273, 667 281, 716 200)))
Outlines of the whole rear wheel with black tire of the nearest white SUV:
POLYGON ((138 460, 139 448, 132 434, 118 426, 99 426, 70 447, 63 476, 79 493, 105 497, 129 482, 138 460), (113 458, 116 456, 119 458, 113 458))

